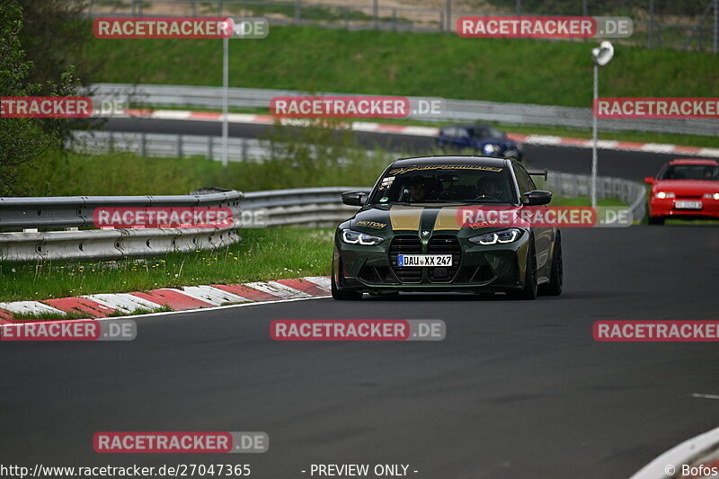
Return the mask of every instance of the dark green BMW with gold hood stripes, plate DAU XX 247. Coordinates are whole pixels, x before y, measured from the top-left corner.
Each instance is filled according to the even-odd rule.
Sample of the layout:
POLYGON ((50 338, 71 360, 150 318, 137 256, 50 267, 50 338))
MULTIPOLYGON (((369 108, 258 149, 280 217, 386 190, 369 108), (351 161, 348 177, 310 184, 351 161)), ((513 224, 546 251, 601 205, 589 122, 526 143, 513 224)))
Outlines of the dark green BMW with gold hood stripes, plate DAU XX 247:
POLYGON ((397 160, 369 194, 342 193, 345 204, 361 208, 337 227, 333 297, 422 291, 559 295, 559 228, 472 220, 475 211, 548 208, 551 200, 552 193, 537 190, 515 160, 397 160))

